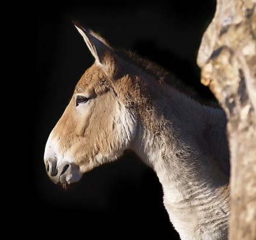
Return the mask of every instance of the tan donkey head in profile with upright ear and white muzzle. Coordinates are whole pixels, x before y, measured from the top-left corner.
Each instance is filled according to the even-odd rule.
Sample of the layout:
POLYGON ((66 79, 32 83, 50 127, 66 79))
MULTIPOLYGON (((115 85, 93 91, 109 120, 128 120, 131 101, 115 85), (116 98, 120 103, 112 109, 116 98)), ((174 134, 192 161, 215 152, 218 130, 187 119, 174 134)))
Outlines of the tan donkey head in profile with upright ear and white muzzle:
POLYGON ((95 63, 78 81, 46 142, 46 171, 62 186, 78 182, 85 172, 116 160, 134 144, 138 127, 129 63, 100 36, 78 22, 74 25, 95 63))

